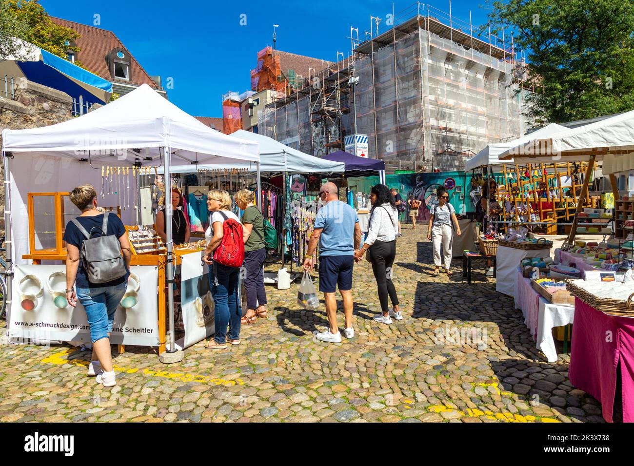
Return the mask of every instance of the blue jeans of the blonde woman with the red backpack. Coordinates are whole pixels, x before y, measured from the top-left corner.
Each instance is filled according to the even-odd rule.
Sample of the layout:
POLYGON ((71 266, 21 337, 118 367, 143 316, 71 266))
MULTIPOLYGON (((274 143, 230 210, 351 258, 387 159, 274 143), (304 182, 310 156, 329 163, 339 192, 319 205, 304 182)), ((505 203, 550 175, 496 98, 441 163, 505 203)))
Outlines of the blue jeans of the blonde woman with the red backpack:
POLYGON ((240 338, 242 304, 238 302, 239 274, 240 268, 237 267, 226 267, 222 264, 209 266, 209 289, 214 297, 214 328, 216 329, 214 340, 217 344, 226 343, 227 325, 229 338, 232 340, 240 338))

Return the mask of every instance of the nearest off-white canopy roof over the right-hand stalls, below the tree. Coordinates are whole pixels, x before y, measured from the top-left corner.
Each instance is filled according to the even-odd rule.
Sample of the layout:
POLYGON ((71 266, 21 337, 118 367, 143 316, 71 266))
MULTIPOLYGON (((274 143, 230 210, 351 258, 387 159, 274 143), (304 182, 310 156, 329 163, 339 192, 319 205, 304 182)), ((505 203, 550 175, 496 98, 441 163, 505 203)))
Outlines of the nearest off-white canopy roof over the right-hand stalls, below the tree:
POLYGON ((623 155, 634 152, 634 110, 620 113, 585 126, 559 131, 551 136, 535 137, 500 154, 515 163, 588 160, 596 155, 623 155))

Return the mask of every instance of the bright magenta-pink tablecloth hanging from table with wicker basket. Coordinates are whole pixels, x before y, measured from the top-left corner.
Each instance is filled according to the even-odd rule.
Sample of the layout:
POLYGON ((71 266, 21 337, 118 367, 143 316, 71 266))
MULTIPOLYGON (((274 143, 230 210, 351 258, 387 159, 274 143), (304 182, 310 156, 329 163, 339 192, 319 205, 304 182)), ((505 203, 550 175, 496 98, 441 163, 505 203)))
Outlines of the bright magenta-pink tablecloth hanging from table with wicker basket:
POLYGON ((606 316, 579 298, 574 309, 571 384, 598 399, 612 422, 620 368, 623 421, 634 422, 634 318, 606 316))

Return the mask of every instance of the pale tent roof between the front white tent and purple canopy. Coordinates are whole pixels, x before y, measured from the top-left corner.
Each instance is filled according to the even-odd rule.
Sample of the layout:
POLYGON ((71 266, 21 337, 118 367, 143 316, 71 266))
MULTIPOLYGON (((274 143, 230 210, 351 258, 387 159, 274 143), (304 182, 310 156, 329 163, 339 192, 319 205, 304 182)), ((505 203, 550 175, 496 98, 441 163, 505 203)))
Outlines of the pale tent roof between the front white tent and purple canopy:
MULTIPOLYGON (((230 137, 254 141, 260 148, 260 172, 288 172, 288 173, 343 173, 346 164, 343 162, 331 162, 313 155, 300 152, 297 149, 283 145, 268 136, 251 133, 240 129, 231 133, 230 137)), ((204 169, 223 169, 223 165, 193 165, 172 167, 172 173, 186 173, 204 169)), ((228 164, 226 168, 245 168, 250 172, 256 172, 255 164, 228 164)))

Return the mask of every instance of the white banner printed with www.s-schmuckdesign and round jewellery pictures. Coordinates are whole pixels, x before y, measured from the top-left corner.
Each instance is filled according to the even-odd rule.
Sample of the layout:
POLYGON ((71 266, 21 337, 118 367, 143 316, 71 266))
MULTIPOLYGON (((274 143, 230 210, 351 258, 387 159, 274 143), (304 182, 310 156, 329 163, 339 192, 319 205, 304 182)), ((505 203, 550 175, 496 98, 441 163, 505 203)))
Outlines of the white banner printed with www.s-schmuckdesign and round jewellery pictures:
MULTIPOLYGON (((139 277, 141 287, 138 291, 137 304, 129 309, 117 307, 113 332, 110 335, 112 344, 127 344, 133 346, 159 346, 159 320, 157 302, 157 282, 159 272, 153 266, 132 266, 131 271, 139 277)), ((57 307, 53 301, 58 298, 58 304, 65 302, 65 275, 54 275, 65 272, 63 265, 22 265, 15 266, 15 278, 9 318, 10 341, 30 342, 41 340, 60 340, 73 342, 91 342, 90 330, 86 318, 86 311, 81 303, 77 307, 67 305, 57 307), (25 280, 24 276, 31 275, 37 280, 25 280), (50 288, 53 293, 49 290, 50 288), (61 292, 63 299, 55 292, 61 292), (25 310, 30 307, 32 310, 25 310)), ((130 290, 130 289, 129 289, 130 290)))

